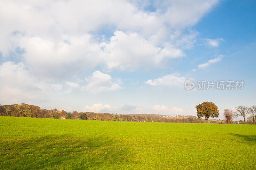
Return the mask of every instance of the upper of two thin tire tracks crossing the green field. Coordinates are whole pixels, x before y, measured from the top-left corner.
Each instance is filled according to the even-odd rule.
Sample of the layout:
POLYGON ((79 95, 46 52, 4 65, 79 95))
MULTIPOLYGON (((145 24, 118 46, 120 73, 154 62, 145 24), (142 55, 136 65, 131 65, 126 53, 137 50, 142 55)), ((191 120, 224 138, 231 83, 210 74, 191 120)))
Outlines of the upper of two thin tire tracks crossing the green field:
MULTIPOLYGON (((161 144, 179 144, 179 143, 196 143, 196 142, 214 142, 223 140, 239 140, 239 139, 220 139, 220 140, 208 140, 208 141, 189 141, 189 142, 172 142, 172 143, 161 143, 161 144)), ((98 148, 98 147, 124 147, 124 146, 146 146, 146 145, 160 145, 160 144, 133 144, 133 145, 116 145, 116 146, 84 146, 84 147, 56 147, 56 148, 21 148, 21 149, 2 149, 0 151, 10 150, 40 150, 40 149, 75 149, 75 148, 98 148)))

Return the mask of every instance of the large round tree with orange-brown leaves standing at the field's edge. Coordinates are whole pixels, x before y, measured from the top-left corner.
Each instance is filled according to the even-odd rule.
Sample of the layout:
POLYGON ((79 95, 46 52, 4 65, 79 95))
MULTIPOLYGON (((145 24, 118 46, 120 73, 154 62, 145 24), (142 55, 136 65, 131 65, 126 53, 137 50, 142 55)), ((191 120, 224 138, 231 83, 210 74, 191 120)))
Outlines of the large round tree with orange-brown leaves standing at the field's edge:
POLYGON ((198 118, 205 117, 205 120, 208 123, 209 117, 218 117, 220 112, 218 110, 218 107, 210 101, 204 101, 203 103, 196 106, 196 112, 198 118))

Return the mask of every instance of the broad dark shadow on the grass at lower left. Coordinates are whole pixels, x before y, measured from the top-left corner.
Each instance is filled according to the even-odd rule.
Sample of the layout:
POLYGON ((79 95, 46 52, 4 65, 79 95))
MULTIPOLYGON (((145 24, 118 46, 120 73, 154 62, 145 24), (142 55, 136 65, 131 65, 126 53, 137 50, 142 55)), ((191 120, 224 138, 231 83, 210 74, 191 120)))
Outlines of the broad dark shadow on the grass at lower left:
MULTIPOLYGON (((131 162, 132 151, 112 137, 38 137, 9 143, 1 169, 116 169, 131 162), (12 150, 11 148, 15 148, 12 150), (17 149, 17 150, 16 150, 17 149), (26 150, 29 149, 29 150, 26 150), (6 154, 6 155, 7 155, 6 154), (18 155, 14 155, 18 154, 18 155)), ((6 147, 5 147, 6 148, 6 147)))

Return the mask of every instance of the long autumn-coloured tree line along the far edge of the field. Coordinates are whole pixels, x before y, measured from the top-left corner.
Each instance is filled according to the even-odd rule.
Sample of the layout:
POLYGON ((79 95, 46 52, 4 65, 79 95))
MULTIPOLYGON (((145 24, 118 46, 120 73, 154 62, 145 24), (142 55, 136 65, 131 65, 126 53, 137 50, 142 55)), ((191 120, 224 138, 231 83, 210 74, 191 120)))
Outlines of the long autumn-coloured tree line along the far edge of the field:
MULTIPOLYGON (((16 116, 16 117, 38 117, 38 118, 60 118, 66 116, 66 119, 85 119, 85 120, 101 120, 101 121, 130 121, 130 122, 187 122, 187 123, 206 123, 204 119, 198 119, 196 116, 165 117, 164 115, 123 115, 110 113, 94 113, 94 112, 66 112, 58 109, 47 110, 35 105, 25 103, 14 105, 0 105, 0 116, 16 116)), ((222 120, 209 120, 211 123, 224 123, 222 120)))

